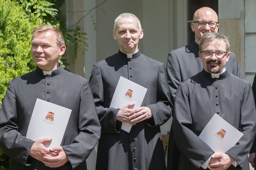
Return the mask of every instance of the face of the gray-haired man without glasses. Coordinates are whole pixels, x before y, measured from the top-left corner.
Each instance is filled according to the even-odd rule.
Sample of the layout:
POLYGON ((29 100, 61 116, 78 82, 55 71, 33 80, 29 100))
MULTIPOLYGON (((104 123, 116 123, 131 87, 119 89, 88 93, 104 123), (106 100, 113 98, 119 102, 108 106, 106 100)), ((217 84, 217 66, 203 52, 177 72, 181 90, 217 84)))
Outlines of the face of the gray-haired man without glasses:
POLYGON ((113 31, 120 50, 133 53, 138 50, 139 39, 143 37, 143 30, 139 30, 138 22, 133 17, 123 17, 117 20, 117 30, 113 31))

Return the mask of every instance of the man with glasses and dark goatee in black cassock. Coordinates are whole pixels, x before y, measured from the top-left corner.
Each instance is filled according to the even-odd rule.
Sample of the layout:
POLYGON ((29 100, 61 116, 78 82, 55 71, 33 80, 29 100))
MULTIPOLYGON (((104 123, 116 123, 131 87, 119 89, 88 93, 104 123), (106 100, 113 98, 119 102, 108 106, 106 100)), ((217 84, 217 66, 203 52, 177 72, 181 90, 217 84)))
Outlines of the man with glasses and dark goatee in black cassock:
POLYGON ((199 51, 203 70, 180 83, 176 92, 173 134, 181 151, 179 170, 247 170, 256 122, 251 85, 225 68, 230 52, 224 35, 205 33, 199 51), (226 153, 214 153, 198 137, 214 114, 243 133, 226 153))

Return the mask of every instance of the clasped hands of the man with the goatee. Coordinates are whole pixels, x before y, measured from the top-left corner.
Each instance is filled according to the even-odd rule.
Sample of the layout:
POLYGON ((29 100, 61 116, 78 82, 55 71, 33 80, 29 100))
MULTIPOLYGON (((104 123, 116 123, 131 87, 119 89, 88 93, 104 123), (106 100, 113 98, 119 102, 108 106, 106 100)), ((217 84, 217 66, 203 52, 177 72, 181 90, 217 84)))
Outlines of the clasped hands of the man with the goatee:
POLYGON ((225 153, 216 152, 211 156, 209 166, 212 170, 225 170, 234 162, 234 159, 225 153))

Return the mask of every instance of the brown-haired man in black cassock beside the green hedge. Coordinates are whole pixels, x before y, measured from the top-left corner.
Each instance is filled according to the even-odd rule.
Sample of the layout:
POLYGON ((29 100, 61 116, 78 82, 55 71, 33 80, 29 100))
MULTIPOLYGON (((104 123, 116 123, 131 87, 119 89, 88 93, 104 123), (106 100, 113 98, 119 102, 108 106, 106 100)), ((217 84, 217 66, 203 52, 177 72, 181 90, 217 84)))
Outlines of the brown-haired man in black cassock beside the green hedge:
MULTIPOLYGON (((0 109, 0 146, 12 158, 11 169, 87 169, 85 160, 99 140, 100 123, 89 82, 58 62, 65 49, 59 29, 34 28, 31 54, 37 67, 9 82, 0 109), (52 138, 26 138, 37 98, 72 110, 61 146, 46 148, 52 138)), ((49 135, 58 131, 44 128, 49 135)))

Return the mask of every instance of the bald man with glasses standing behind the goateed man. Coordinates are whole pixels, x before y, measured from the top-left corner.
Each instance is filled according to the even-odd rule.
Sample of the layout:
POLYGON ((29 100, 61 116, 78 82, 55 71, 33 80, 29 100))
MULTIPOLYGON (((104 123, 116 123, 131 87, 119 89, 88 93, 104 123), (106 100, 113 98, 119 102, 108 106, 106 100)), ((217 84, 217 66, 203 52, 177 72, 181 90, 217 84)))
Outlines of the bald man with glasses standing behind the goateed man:
MULTIPOLYGON (((169 83, 169 89, 171 94, 171 102, 174 103, 175 94, 177 88, 181 82, 199 73, 203 69, 203 65, 200 61, 199 52, 199 40, 205 32, 218 32, 218 15, 209 7, 199 8, 191 23, 191 29, 195 32, 195 41, 187 46, 179 49, 172 50, 168 54, 168 61, 166 65, 167 79, 169 83)), ((237 62, 236 54, 230 52, 229 62, 225 65, 226 69, 242 78, 240 66, 237 62)), ((173 130, 171 127, 169 146, 168 146, 168 161, 167 169, 177 169, 179 164, 179 150, 177 150, 176 144, 173 139, 173 130)))

